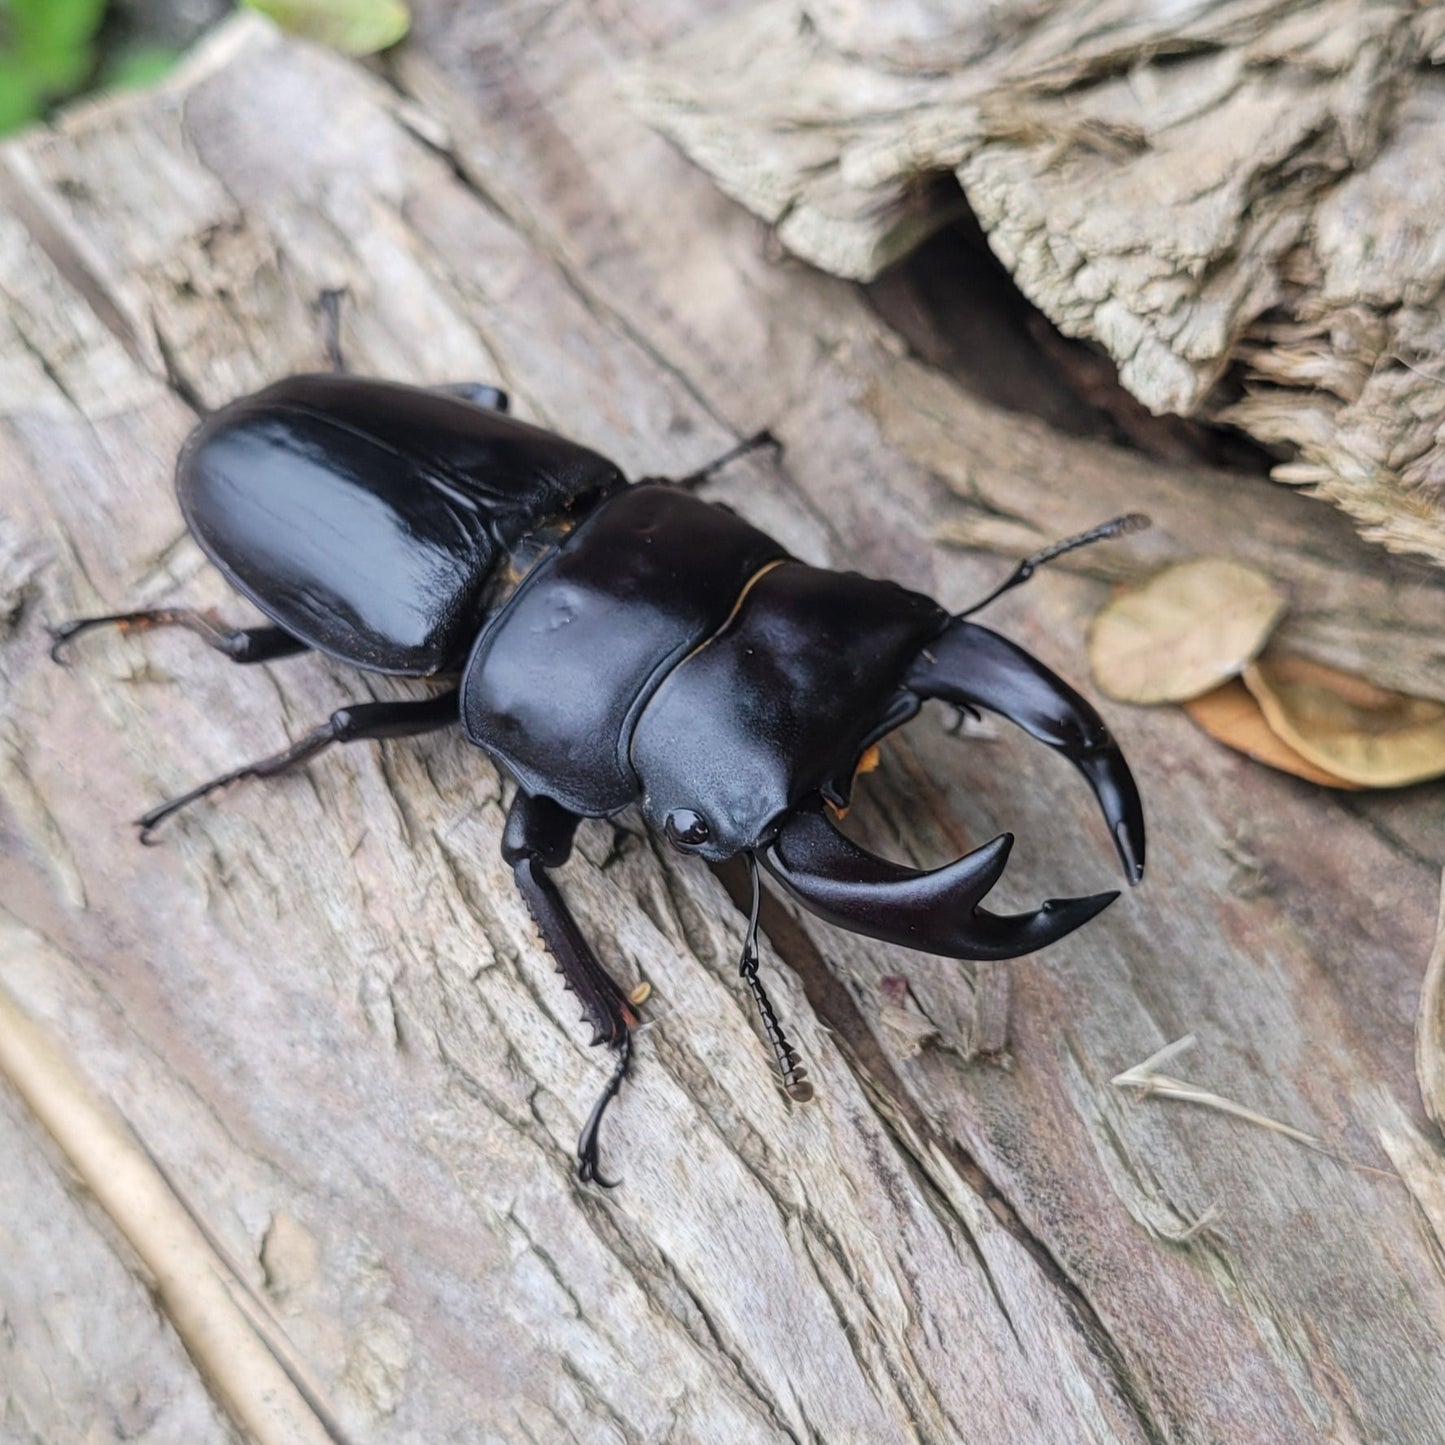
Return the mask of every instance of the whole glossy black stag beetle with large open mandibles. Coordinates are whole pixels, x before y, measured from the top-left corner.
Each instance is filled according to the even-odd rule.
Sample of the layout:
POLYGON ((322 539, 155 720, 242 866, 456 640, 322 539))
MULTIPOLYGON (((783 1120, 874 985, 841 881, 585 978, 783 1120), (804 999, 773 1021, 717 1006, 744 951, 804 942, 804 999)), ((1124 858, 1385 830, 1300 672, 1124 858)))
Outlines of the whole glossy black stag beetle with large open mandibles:
POLYGON ((980 900, 1010 834, 919 871, 837 829, 860 762, 925 698, 990 708, 1064 753, 1094 789, 1129 881, 1143 876, 1139 792, 1098 714, 967 620, 1040 562, 1143 519, 1048 548, 949 614, 894 582, 799 562, 692 494, 764 441, 681 481, 629 483, 605 457, 512 418, 496 387, 290 377, 210 415, 176 465, 186 525, 270 624, 227 629, 163 610, 53 629, 55 649, 107 623, 176 626, 241 663, 315 649, 371 672, 451 679, 432 696, 341 708, 285 751, 152 809, 142 838, 217 788, 273 777, 332 743, 461 722, 517 782, 503 854, 592 1043, 616 1052, 578 1143, 587 1181, 607 1182, 598 1129, 639 1014, 551 876, 582 818, 637 803, 683 853, 747 860, 741 974, 799 1100, 811 1085, 757 978, 759 863, 829 923, 952 958, 1029 954, 1118 896, 1000 916, 980 900))

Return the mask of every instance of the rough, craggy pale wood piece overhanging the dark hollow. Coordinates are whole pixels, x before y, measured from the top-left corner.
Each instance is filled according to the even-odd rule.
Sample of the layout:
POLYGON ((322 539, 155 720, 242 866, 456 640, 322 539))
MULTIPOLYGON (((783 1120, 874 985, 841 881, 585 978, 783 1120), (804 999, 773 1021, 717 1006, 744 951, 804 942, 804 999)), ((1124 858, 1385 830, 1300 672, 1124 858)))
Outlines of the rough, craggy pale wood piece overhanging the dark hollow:
POLYGON ((1445 22, 1410 0, 767 0, 639 110, 790 250, 871 277, 958 205, 1155 412, 1445 562, 1445 22), (1241 383, 1244 394, 1241 396, 1241 383))

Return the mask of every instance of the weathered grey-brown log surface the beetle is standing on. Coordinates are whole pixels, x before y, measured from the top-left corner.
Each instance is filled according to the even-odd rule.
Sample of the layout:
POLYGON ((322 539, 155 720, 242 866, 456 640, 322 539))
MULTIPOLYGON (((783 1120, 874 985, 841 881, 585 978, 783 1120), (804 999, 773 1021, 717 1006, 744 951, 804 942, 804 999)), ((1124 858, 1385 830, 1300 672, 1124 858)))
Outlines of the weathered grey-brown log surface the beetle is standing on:
MULTIPOLYGON (((153 1441, 306 1419, 418 1442, 1441 1436, 1441 1241, 1412 1194, 1442 1169, 1412 1056, 1438 788, 1332 798, 1181 714, 1113 709, 1152 876, 1066 944, 967 968, 769 909, 806 1107, 773 1085, 720 883, 626 816, 590 825, 562 886, 653 985, 611 1194, 571 1165, 605 1062, 501 864, 510 783, 474 749, 342 750, 134 845, 153 799, 400 691, 184 636, 45 656, 45 621, 98 605, 241 616, 171 458, 197 407, 324 364, 324 290, 347 293, 354 370, 499 381, 633 474, 772 425, 783 464, 714 496, 955 605, 1006 566, 990 552, 1153 509, 1137 556, 1084 555, 998 608, 1075 676, 1118 569, 1237 542, 1293 587, 1302 649, 1438 686, 1429 569, 1287 491, 972 402, 851 288, 770 260, 611 90, 695 20, 422 7, 387 79, 244 23, 163 92, 0 152, 0 1055, 39 1111, 7 1095, 0 1419, 153 1441), (33 1062, 32 1026, 65 1066, 33 1062), (1409 1159, 1413 1186, 1110 1084, 1191 1030, 1189 1077, 1373 1169, 1409 1159), (39 1123, 62 1116, 92 1123, 39 1123), (110 1204, 105 1160, 129 1181, 110 1204), (217 1357, 224 1302, 185 1293, 137 1198, 184 1204, 236 1300, 217 1328, 249 1321, 273 1373, 217 1357)), ((1013 827, 1020 905, 1108 876, 1066 767, 931 717, 858 827, 916 858, 1013 827)))

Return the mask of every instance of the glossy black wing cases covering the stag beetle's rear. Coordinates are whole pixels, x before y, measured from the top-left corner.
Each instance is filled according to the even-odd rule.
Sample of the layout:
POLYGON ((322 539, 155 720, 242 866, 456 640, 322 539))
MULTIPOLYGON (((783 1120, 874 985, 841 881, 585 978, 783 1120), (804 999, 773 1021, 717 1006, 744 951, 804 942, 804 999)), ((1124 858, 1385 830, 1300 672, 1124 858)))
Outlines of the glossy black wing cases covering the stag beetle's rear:
POLYGON ((454 672, 525 532, 620 481, 607 458, 455 396, 290 377, 181 454, 191 530, 269 617, 376 672, 454 672))

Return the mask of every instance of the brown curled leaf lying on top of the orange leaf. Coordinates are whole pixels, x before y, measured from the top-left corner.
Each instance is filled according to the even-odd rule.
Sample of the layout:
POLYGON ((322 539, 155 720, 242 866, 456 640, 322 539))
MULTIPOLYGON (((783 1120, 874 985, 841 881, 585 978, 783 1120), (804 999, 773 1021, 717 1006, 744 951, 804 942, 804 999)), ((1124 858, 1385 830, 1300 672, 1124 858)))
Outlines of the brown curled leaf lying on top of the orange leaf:
POLYGON ((1244 670, 1269 725, 1318 767, 1363 788, 1445 776, 1445 702, 1389 692, 1305 657, 1244 670))

